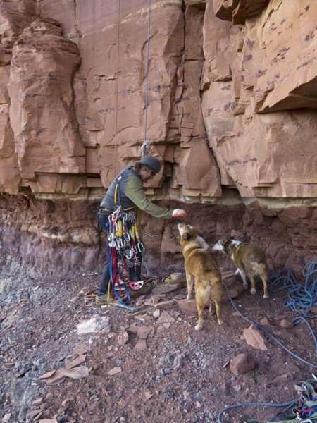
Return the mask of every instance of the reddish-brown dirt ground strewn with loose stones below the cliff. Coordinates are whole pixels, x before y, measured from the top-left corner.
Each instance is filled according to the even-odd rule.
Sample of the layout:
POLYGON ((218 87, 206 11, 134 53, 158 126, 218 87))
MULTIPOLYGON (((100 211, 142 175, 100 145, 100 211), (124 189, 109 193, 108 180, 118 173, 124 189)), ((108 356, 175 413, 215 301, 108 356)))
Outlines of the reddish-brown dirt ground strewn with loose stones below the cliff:
MULTIPOLYGON (((245 291, 233 300, 236 308, 224 301, 223 326, 206 309, 204 329, 197 332, 197 313, 178 305, 186 296, 184 285, 164 294, 169 284, 159 282, 159 294, 155 288, 156 295, 130 303, 141 307, 132 313, 114 305, 91 306, 87 289, 98 286, 100 278, 95 273, 51 280, 1 276, 1 422, 272 419, 284 407, 242 405, 288 403, 297 398, 294 384, 317 372, 292 355, 316 363, 307 326, 282 328, 283 319, 292 322, 296 315, 280 293, 265 300, 261 288, 256 295, 245 291), (166 301, 165 307, 154 307, 166 301), (290 352, 264 331, 267 350, 249 345, 243 331, 251 323, 240 313, 290 352), (92 318, 103 328, 78 333, 92 318), (241 353, 255 367, 236 376, 230 362, 241 353), (232 405, 239 407, 220 415, 232 405)), ((315 319, 311 326, 315 331, 315 319)))

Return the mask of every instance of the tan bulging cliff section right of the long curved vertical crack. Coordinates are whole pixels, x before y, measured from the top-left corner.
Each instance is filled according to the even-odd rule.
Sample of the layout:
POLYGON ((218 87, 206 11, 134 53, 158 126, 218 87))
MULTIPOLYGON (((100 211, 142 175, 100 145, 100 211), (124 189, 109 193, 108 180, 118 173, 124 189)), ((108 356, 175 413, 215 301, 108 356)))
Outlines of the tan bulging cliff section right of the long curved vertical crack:
POLYGON ((316 11, 307 1, 270 1, 254 18, 247 9, 243 26, 212 4, 205 13, 202 109, 222 182, 242 197, 315 197, 316 11))

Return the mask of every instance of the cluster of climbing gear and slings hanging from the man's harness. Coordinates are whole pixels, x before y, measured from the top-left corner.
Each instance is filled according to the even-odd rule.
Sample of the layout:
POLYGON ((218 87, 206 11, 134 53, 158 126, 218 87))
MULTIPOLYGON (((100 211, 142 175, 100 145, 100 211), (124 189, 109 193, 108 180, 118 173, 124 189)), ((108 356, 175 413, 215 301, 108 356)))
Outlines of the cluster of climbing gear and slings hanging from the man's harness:
MULTIPOLYGON (((124 274, 141 264, 137 253, 144 251, 144 244, 139 237, 135 210, 124 210, 120 206, 109 216, 108 221, 108 263, 112 292, 119 302, 128 304, 130 292, 124 274)), ((134 289, 138 288, 135 286, 134 289)))

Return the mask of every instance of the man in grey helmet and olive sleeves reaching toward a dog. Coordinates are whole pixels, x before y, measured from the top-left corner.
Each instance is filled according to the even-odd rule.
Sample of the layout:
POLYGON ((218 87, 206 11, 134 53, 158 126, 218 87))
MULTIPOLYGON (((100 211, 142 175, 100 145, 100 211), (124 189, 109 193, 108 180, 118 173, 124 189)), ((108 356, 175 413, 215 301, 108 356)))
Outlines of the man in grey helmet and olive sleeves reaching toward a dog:
MULTIPOLYGON (((143 184, 154 178, 159 171, 161 171, 161 162, 153 156, 144 156, 141 160, 135 162, 135 166, 124 168, 113 180, 101 201, 98 210, 99 227, 108 233, 109 216, 113 216, 118 207, 122 207, 123 212, 127 213, 130 211, 137 212, 137 209, 140 209, 159 218, 187 217, 187 212, 183 209, 164 209, 147 199, 143 184)), ((142 248, 136 250, 136 265, 128 266, 128 273, 130 288, 137 290, 143 285, 143 281, 141 281, 142 248)), ((108 302, 108 283, 111 280, 111 269, 111 263, 108 259, 96 296, 97 305, 105 305, 108 302)))

